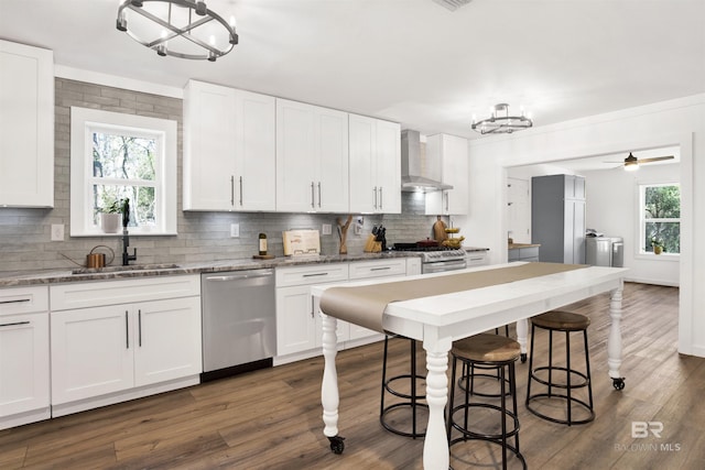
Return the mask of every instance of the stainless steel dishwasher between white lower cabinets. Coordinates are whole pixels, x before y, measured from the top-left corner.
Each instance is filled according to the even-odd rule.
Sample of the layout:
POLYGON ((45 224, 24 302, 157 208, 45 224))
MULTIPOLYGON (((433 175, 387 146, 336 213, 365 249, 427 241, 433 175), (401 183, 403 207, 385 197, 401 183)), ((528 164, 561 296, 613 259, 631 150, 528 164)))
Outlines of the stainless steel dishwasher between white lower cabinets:
POLYGON ((200 275, 203 382, 272 365, 274 270, 200 275))

